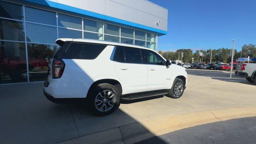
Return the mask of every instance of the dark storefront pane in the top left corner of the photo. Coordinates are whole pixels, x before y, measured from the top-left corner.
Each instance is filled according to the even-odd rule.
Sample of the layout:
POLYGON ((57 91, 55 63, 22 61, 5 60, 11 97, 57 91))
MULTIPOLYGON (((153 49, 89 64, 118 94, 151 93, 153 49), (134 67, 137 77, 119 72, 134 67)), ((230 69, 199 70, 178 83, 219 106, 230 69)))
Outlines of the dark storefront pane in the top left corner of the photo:
POLYGON ((23 6, 0 1, 0 17, 23 20, 23 6))

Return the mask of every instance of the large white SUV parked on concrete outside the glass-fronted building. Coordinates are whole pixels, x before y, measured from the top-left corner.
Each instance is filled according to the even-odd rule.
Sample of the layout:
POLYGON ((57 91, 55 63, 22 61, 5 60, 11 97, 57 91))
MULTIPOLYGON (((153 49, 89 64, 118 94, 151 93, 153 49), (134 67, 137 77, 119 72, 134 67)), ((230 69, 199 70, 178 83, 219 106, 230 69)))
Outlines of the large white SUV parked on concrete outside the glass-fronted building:
POLYGON ((188 75, 156 51, 116 42, 56 40, 44 94, 55 103, 85 99, 98 116, 112 113, 120 101, 151 96, 182 96, 188 75))

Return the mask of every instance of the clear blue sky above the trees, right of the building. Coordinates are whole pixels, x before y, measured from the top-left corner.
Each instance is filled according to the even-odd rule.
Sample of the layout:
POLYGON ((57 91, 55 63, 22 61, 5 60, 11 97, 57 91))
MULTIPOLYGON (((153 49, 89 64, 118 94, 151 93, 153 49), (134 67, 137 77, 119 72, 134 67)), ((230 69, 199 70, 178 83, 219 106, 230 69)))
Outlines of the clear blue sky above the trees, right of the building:
POLYGON ((235 48, 256 44, 256 0, 150 0, 168 9, 158 50, 235 48))

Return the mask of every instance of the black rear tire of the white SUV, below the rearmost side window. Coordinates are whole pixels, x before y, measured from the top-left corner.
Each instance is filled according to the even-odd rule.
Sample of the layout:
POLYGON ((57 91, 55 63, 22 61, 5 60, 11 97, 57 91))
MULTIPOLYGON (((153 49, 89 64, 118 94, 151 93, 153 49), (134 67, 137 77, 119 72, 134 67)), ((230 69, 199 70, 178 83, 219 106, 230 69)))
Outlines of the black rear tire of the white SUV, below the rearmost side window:
POLYGON ((94 86, 92 88, 92 90, 90 90, 89 95, 88 95, 88 108, 90 110, 90 112, 92 112, 92 114, 94 114, 95 116, 106 116, 108 114, 111 114, 112 112, 114 112, 119 106, 120 106, 120 92, 118 92, 118 89, 108 83, 102 83, 102 84, 98 84, 96 86, 94 86), (108 101, 108 94, 104 94, 106 91, 111 91, 112 93, 110 93, 110 95, 114 94, 115 100, 114 102, 111 102, 110 100, 108 101), (103 93, 102 93, 103 92, 103 93), (104 98, 100 97, 99 94, 105 95, 104 98), (98 96, 98 97, 97 97, 98 96), (99 100, 99 98, 101 98, 102 100, 99 100, 98 104, 100 104, 98 107, 96 106, 96 98, 99 100), (112 108, 110 108, 110 104, 109 102, 111 102, 111 104, 113 105, 112 108), (105 104, 105 106, 103 106, 103 104, 105 104), (100 106, 102 105, 102 110, 100 111, 100 106), (109 110, 108 109, 109 106, 109 110), (105 108, 104 108, 105 107, 105 108))

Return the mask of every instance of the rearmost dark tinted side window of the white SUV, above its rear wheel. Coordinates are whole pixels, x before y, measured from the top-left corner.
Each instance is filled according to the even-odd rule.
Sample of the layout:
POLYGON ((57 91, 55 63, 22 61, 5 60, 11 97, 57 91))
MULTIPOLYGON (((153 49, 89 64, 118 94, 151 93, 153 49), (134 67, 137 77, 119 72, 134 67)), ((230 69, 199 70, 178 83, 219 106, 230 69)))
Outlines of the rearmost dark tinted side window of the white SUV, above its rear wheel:
POLYGON ((106 45, 72 42, 63 58, 93 60, 97 58, 104 48, 106 48, 106 45))

